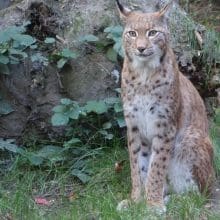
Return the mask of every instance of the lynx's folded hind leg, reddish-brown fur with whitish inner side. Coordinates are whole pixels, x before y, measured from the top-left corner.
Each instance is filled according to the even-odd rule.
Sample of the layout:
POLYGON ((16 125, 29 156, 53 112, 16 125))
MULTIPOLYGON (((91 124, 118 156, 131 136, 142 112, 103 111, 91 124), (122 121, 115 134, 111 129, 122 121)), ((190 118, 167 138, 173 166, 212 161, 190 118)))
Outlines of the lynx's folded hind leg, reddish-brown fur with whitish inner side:
POLYGON ((173 158, 168 168, 171 188, 176 193, 189 190, 209 190, 214 172, 212 168, 212 145, 198 130, 190 129, 175 144, 173 158))

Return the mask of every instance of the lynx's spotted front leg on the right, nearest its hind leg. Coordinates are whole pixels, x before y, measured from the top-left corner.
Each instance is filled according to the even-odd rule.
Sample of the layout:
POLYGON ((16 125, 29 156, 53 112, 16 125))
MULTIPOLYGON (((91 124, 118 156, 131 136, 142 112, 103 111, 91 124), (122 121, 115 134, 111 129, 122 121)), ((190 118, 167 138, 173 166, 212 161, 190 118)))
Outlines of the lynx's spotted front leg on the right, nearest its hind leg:
POLYGON ((165 211, 163 190, 170 160, 173 138, 163 138, 160 135, 152 142, 152 154, 146 182, 147 203, 150 206, 162 208, 165 211))

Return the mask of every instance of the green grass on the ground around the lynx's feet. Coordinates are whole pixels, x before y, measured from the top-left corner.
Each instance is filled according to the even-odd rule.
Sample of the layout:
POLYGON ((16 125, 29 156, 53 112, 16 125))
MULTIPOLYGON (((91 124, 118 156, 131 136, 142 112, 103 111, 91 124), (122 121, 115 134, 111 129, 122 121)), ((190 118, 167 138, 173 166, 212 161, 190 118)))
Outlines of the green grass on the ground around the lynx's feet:
POLYGON ((21 167, 19 160, 15 164, 0 179, 0 219, 3 220, 220 219, 220 215, 205 208, 207 199, 194 193, 172 195, 166 217, 148 210, 144 202, 117 212, 117 203, 129 197, 131 188, 128 153, 117 142, 90 162, 94 175, 85 185, 62 169, 21 167), (125 160, 123 169, 116 173, 114 164, 122 160, 125 160), (36 197, 46 198, 51 205, 37 205, 36 197))

